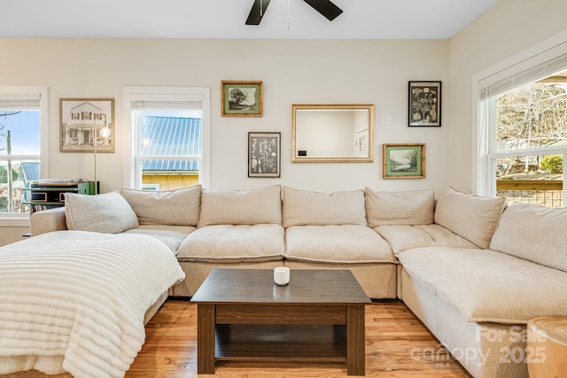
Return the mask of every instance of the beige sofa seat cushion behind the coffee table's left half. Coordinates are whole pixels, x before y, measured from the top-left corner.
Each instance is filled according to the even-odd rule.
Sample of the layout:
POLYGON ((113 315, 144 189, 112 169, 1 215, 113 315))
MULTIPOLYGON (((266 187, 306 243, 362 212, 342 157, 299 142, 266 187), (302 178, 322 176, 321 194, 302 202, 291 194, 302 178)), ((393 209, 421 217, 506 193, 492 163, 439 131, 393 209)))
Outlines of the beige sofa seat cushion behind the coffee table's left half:
POLYGON ((177 259, 237 263, 283 259, 283 227, 273 224, 214 225, 198 228, 183 241, 177 259))

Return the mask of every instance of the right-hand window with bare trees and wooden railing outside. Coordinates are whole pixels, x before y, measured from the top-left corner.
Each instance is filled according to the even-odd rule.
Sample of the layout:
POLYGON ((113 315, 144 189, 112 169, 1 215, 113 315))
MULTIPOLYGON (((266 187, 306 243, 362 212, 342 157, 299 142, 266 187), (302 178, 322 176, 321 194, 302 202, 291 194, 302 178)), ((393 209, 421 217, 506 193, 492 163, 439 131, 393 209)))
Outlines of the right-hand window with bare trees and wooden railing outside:
POLYGON ((478 81, 478 192, 563 207, 567 42, 478 81))

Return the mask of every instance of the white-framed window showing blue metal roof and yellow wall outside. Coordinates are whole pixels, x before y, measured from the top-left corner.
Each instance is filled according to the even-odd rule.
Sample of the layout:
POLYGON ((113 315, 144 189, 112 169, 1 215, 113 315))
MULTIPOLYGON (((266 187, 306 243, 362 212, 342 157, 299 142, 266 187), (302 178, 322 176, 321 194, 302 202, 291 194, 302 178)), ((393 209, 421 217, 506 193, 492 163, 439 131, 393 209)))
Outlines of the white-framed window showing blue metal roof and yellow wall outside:
POLYGON ((208 186, 209 89, 124 89, 129 109, 125 186, 179 189, 208 186))

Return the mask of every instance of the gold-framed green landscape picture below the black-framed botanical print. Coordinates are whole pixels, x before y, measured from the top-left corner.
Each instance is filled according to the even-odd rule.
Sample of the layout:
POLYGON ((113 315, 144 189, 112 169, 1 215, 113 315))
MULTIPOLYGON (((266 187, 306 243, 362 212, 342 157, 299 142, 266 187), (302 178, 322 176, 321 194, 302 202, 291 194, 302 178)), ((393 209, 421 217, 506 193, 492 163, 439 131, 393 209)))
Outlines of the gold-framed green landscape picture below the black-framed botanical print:
POLYGON ((425 143, 384 144, 384 179, 423 179, 425 177, 425 143))

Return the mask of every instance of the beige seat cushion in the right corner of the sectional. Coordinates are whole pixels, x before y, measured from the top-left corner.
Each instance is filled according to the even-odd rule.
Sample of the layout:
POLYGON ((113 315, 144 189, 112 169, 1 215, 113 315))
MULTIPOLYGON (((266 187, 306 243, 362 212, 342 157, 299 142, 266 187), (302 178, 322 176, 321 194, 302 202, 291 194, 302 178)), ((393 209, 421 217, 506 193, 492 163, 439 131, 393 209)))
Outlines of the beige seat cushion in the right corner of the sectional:
POLYGON ((453 247, 478 249, 462 236, 456 235, 439 225, 380 226, 374 228, 390 243, 394 254, 419 247, 453 247))

